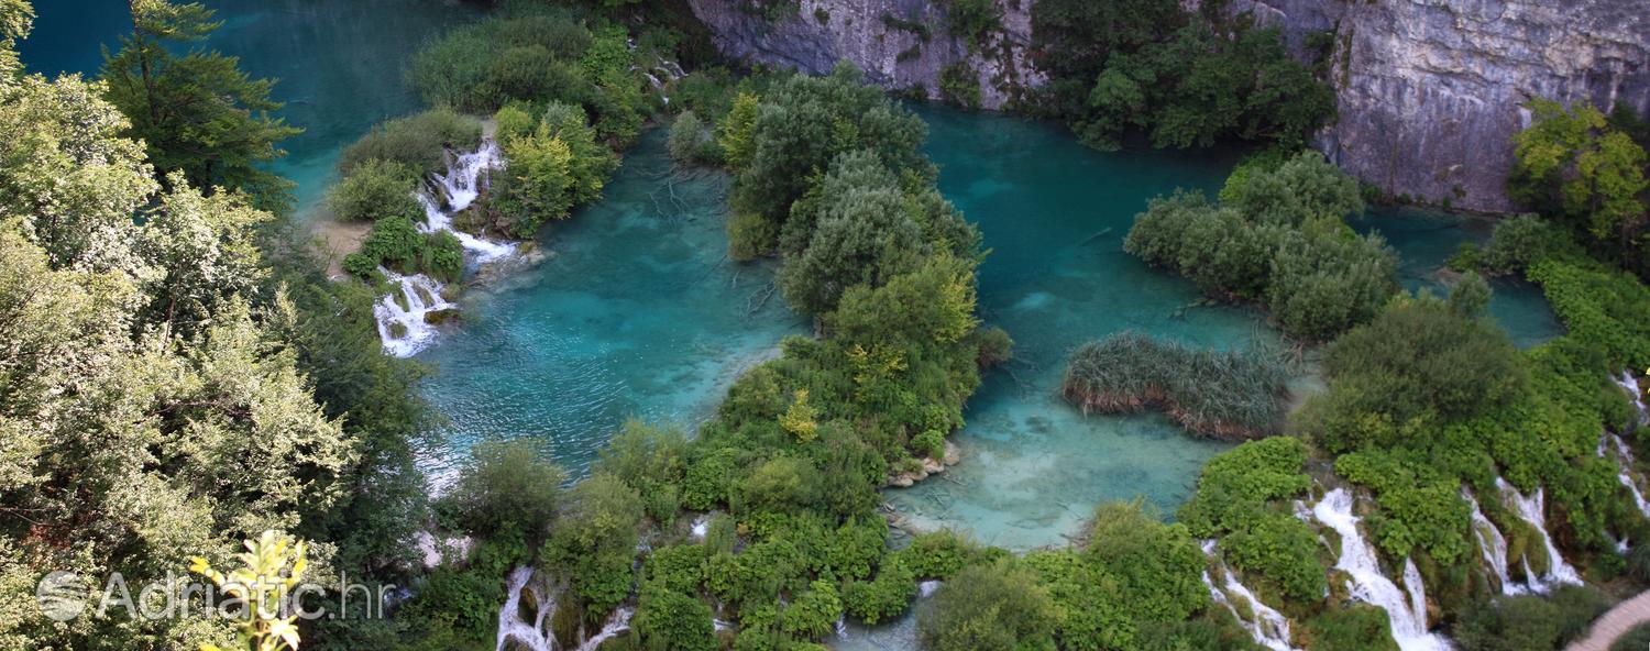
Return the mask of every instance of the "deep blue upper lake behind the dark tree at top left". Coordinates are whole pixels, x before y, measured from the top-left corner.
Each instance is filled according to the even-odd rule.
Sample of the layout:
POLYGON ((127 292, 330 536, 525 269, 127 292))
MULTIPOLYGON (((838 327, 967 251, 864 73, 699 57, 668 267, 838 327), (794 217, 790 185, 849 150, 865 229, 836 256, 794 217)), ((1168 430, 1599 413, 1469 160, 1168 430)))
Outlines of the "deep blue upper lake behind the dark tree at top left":
MULTIPOLYGON (((271 170, 297 181, 307 219, 333 180, 338 152, 386 117, 421 109, 404 63, 431 35, 469 20, 470 5, 444 0, 206 0, 223 28, 206 46, 239 56, 254 77, 276 77, 280 115, 305 133, 284 143, 271 170)), ((119 48, 130 30, 125 0, 35 0, 23 61, 35 73, 102 66, 99 46, 119 48)))

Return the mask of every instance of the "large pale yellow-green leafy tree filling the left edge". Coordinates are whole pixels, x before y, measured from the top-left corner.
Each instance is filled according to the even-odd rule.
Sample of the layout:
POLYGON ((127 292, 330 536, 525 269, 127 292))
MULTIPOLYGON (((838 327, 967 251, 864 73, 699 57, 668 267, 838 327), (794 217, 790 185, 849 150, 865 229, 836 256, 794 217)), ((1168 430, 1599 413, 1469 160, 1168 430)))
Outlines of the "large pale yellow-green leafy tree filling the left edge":
MULTIPOLYGON (((205 16, 158 2, 140 10, 153 12, 145 30, 162 15, 205 16)), ((26 3, 0 2, 8 66, 28 15, 26 3)), ((167 84, 183 89, 175 97, 198 97, 224 68, 239 76, 213 54, 168 61, 167 84)), ((0 74, 3 644, 198 648, 238 636, 231 621, 193 610, 53 623, 18 600, 45 569, 119 572, 130 585, 180 575, 188 557, 239 572, 241 541, 266 531, 323 541, 309 547, 312 567, 370 583, 411 567, 426 491, 409 440, 431 414, 412 391, 419 368, 381 353, 373 297, 269 246, 262 236, 287 227, 280 214, 236 191, 205 194, 185 158, 155 165, 127 137, 134 122, 120 109, 130 107, 104 99, 102 86, 10 73, 0 74)), ((195 127, 185 115, 142 129, 157 130, 153 147, 193 142, 170 129, 195 127)), ((269 133, 267 124, 211 127, 231 129, 211 140, 223 150, 188 160, 238 165, 241 147, 269 133)), ((280 185, 239 178, 233 165, 211 175, 246 193, 280 185)), ((284 565, 274 547, 261 560, 284 565)), ((276 621, 248 631, 277 633, 276 621)), ((328 636, 322 628, 332 630, 304 631, 305 648, 328 636)))

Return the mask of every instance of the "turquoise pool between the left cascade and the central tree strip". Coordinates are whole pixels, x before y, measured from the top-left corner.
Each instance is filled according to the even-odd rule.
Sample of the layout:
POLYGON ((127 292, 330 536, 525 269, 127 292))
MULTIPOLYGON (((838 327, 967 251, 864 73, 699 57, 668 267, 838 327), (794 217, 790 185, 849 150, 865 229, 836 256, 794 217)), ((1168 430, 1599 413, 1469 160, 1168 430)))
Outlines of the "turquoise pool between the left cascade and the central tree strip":
POLYGON ((601 203, 540 234, 551 259, 467 292, 465 325, 419 356, 439 369, 424 394, 452 420, 426 455, 437 475, 487 438, 538 440, 582 471, 627 417, 691 427, 807 331, 771 290, 772 265, 728 260, 726 175, 673 173, 663 142, 644 135, 601 203))

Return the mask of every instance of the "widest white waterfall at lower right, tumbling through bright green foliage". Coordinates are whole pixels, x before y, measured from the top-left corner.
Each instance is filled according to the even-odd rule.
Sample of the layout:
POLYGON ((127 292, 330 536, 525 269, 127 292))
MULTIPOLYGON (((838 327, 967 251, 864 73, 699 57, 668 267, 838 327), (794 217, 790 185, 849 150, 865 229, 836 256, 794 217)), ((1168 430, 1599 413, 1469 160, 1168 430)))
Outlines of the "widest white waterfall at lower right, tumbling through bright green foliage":
POLYGON ((1351 575, 1351 598, 1376 605, 1386 610, 1393 625, 1393 639, 1404 651, 1449 649, 1447 639, 1427 633, 1426 592, 1421 585, 1421 572, 1416 564, 1404 560, 1404 593, 1391 578, 1381 574, 1381 562, 1374 557, 1374 549, 1358 532, 1358 516, 1351 514, 1353 498, 1345 488, 1336 488, 1323 496, 1312 514, 1341 539, 1340 559, 1335 569, 1351 575))

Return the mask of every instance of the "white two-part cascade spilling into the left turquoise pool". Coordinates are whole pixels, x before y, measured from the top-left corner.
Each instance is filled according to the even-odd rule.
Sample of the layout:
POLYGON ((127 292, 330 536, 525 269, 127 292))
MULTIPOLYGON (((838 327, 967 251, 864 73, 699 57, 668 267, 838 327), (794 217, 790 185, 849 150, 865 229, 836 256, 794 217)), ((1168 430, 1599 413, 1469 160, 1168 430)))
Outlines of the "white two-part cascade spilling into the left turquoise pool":
MULTIPOLYGON (((483 138, 475 152, 454 157, 447 163, 447 173, 432 175, 431 188, 414 193, 417 203, 424 206, 424 222, 417 229, 421 232, 452 232, 464 246, 465 257, 477 265, 515 254, 515 244, 492 242, 452 227, 452 216, 470 208, 480 196, 483 175, 500 165, 503 165, 503 157, 498 143, 492 138, 483 138), (441 196, 432 196, 431 191, 441 196)), ((455 310, 457 305, 441 298, 444 287, 434 279, 422 274, 399 275, 386 269, 380 270, 399 288, 399 297, 386 295, 373 308, 384 353, 398 358, 414 356, 436 340, 436 328, 427 316, 436 311, 455 310)))

